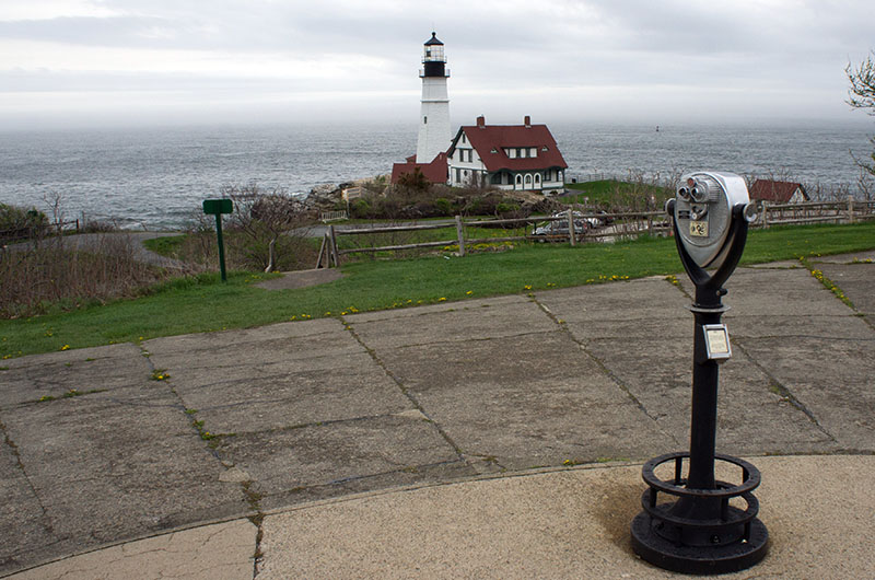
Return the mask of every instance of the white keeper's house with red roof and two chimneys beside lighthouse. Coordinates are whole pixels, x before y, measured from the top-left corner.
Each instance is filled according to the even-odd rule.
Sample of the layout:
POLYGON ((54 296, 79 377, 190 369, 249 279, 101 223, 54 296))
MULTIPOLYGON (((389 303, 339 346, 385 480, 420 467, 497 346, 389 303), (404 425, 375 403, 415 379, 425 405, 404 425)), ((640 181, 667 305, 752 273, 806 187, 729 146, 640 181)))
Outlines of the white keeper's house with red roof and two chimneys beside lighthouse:
POLYGON ((451 186, 482 184, 500 189, 562 193, 568 163, 546 125, 459 127, 446 152, 451 186))

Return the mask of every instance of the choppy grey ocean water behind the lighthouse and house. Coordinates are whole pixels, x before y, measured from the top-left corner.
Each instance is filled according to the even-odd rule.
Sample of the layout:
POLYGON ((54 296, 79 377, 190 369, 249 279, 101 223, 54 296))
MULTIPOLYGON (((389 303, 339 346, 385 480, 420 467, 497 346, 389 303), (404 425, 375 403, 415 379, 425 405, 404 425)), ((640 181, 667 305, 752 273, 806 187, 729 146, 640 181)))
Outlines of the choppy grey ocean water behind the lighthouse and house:
MULTIPOLYGON (((835 187, 855 184, 875 127, 635 126, 553 123, 567 179, 719 170, 835 187)), ((0 132, 0 202, 47 210, 60 194, 68 220, 177 229, 222 186, 306 193, 392 171, 416 150, 417 128, 395 125, 198 126, 0 132)), ((853 190, 853 186, 852 186, 853 190)))

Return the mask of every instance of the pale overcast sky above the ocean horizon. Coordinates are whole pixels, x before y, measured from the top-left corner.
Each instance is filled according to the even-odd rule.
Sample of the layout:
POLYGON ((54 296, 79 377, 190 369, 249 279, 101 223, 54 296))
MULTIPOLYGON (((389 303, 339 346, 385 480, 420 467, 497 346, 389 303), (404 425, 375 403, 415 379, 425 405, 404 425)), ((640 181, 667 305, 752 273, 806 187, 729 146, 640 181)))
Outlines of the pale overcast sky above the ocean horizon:
POLYGON ((873 123, 872 0, 2 0, 0 129, 415 124, 432 30, 454 125, 873 123))

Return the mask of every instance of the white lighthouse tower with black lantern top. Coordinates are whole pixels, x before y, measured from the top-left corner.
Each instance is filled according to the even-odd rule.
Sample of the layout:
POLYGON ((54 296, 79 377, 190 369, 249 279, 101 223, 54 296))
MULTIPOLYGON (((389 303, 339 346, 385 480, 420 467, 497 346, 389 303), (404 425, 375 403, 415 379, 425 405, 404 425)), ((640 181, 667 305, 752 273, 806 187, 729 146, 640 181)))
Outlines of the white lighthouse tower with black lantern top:
POLYGON ((446 69, 444 44, 435 33, 425 40, 422 55, 422 108, 419 114, 419 138, 417 163, 431 163, 439 153, 450 148, 453 138, 450 129, 450 96, 446 93, 446 69))

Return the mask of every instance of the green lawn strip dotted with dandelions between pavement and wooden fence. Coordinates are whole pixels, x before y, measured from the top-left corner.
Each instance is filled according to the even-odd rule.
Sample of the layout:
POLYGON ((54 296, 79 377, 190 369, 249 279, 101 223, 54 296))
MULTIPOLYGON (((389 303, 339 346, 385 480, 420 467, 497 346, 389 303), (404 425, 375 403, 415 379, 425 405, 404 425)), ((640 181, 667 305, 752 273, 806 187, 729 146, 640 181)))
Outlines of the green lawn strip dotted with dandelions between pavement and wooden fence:
MULTIPOLYGON (((875 248, 875 222, 750 232, 743 264, 875 248)), ((74 312, 0 321, 3 358, 185 333, 337 316, 369 310, 526 293, 682 270, 672 239, 618 244, 529 245, 464 258, 360 262, 345 278, 268 291, 265 275, 201 275, 161 285, 150 295, 74 312)))

